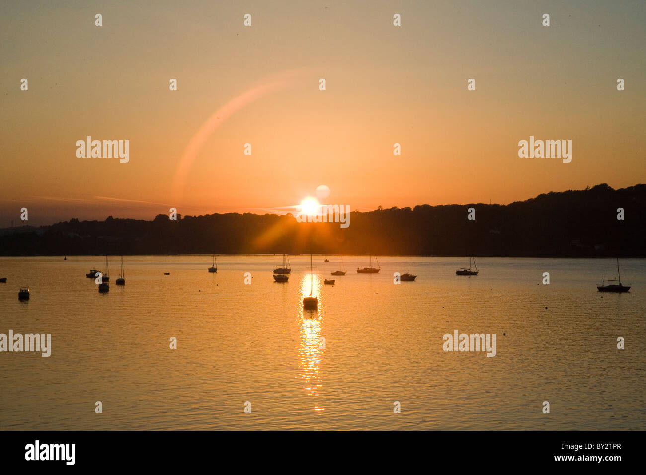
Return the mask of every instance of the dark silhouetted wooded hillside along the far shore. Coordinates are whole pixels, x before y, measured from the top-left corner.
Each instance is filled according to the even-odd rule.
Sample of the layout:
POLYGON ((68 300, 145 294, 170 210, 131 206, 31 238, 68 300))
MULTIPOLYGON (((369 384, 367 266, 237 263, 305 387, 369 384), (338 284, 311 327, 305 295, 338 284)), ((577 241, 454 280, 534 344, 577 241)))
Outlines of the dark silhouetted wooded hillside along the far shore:
POLYGON ((373 254, 646 257, 646 185, 547 193, 524 202, 350 213, 350 225, 245 213, 170 220, 72 219, 0 230, 0 255, 373 254), (474 207, 475 220, 468 220, 474 207), (618 220, 618 208, 625 218, 618 220))

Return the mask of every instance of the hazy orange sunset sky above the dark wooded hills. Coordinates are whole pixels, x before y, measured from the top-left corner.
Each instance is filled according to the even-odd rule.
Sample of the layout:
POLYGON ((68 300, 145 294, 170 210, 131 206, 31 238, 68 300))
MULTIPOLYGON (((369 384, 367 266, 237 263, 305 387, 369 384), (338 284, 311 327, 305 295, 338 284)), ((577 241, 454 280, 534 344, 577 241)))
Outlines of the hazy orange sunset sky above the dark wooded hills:
POLYGON ((646 182, 641 2, 237 4, 3 3, 0 227, 263 213, 322 184, 374 209, 646 182), (129 163, 77 158, 87 135, 129 163), (519 158, 530 135, 572 163, 519 158))

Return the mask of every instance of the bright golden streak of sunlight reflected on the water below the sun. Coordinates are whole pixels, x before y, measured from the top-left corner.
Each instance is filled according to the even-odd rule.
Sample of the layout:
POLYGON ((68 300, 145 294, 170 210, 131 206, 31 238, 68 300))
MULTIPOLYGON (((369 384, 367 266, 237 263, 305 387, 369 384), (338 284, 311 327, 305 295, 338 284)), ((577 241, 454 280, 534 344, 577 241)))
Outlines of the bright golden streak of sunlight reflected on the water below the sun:
MULTIPOLYGON (((300 311, 300 344, 298 346, 298 357, 300 358, 300 374, 303 379, 303 388, 307 396, 318 397, 320 388, 323 386, 320 363, 325 352, 325 343, 321 338, 322 310, 325 309, 324 301, 320 298, 321 280, 313 275, 312 295, 318 295, 318 310, 307 310, 298 305, 300 311)), ((310 295, 310 275, 304 274, 300 279, 300 297, 304 299, 310 295)), ((313 401, 314 411, 322 412, 324 407, 313 401)))

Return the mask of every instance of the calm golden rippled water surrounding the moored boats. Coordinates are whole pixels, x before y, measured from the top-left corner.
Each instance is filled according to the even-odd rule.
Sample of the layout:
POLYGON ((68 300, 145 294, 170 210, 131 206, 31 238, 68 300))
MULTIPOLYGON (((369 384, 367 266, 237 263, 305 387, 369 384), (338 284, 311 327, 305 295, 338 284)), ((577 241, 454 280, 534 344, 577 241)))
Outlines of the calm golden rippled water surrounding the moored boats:
POLYGON ((223 256, 216 274, 211 257, 125 257, 119 287, 111 257, 99 294, 85 273, 103 257, 0 258, 0 333, 52 333, 48 358, 0 353, 0 429, 646 429, 643 260, 611 295, 595 287, 611 260, 478 259, 459 277, 466 258, 358 275, 368 259, 346 257, 330 277, 338 260, 315 257, 309 313, 309 256, 290 259, 276 284, 279 256, 223 256), (444 352, 453 330, 497 333, 497 355, 444 352))

